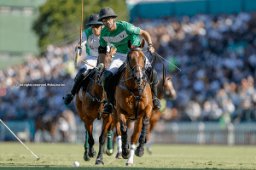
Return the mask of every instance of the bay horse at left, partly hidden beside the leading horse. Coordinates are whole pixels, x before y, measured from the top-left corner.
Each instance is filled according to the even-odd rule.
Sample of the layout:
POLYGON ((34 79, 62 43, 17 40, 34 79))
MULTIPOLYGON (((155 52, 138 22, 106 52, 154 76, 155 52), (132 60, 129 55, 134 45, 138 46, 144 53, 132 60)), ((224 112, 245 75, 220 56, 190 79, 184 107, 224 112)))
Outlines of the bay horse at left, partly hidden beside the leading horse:
MULTIPOLYGON (((113 51, 108 52, 108 54, 113 54, 113 51)), ((111 131, 111 122, 112 116, 108 114, 102 114, 102 108, 104 102, 105 95, 103 93, 103 88, 101 85, 101 77, 103 72, 106 71, 108 65, 110 64, 112 57, 111 55, 100 55, 98 59, 99 64, 103 64, 103 69, 96 70, 94 76, 90 76, 89 84, 84 88, 80 88, 79 95, 76 95, 76 107, 79 112, 80 119, 84 122, 85 127, 85 143, 84 143, 84 161, 90 161, 90 157, 96 156, 96 150, 94 150, 93 145, 95 144, 92 131, 93 131, 93 122, 96 118, 103 119, 102 122, 102 133, 99 137, 99 152, 96 159, 96 165, 103 165, 103 150, 104 143, 107 138, 107 130, 108 136, 112 135, 111 131), (103 57, 104 56, 104 57, 103 57)), ((93 72, 91 73, 93 74, 93 72)), ((113 154, 112 146, 108 147, 107 154, 111 156, 113 154)))

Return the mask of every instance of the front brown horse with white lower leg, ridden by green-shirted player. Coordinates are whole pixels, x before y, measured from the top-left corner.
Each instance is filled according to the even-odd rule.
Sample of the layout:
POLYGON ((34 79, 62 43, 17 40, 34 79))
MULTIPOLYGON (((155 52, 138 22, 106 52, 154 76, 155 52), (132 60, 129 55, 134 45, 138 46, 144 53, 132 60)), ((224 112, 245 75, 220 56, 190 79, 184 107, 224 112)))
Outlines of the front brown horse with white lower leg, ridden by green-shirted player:
POLYGON ((125 72, 120 77, 115 90, 116 110, 113 114, 115 118, 113 124, 116 123, 118 133, 121 134, 121 154, 123 158, 128 159, 126 165, 133 164, 134 154, 143 156, 149 119, 153 111, 151 88, 146 76, 146 56, 143 54, 144 44, 143 40, 140 46, 132 46, 131 41, 128 41, 130 50, 127 54, 125 72), (128 120, 136 121, 131 136, 131 150, 127 142, 128 120), (140 144, 137 147, 139 133, 141 133, 140 144))

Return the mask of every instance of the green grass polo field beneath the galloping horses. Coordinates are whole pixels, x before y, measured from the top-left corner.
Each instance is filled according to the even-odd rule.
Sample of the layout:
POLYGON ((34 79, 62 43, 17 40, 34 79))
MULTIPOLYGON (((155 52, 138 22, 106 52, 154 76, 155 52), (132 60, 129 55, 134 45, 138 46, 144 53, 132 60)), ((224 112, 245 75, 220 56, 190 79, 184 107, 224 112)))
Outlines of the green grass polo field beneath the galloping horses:
MULTIPOLYGON (((20 143, 0 143, 0 169, 126 169, 126 160, 104 155, 84 161, 84 144, 26 144, 40 160, 20 143), (80 167, 73 167, 79 161, 80 167), (84 168, 86 167, 86 168, 84 168)), ((145 148, 146 149, 146 148, 145 148)), ((98 150, 98 145, 95 145, 98 150)), ((133 169, 256 169, 256 147, 215 145, 152 145, 153 154, 134 157, 133 169)))

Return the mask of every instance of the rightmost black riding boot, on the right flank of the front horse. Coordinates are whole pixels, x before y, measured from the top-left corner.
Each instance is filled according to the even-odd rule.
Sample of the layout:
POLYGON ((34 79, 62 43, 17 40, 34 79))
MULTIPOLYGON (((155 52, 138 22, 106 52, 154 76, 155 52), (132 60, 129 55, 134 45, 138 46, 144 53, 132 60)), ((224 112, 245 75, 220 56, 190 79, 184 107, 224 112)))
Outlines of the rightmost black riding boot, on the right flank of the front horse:
POLYGON ((160 99, 157 98, 157 84, 158 84, 158 78, 157 78, 157 72, 155 70, 152 71, 152 68, 149 67, 147 69, 148 76, 151 77, 150 81, 151 84, 151 91, 152 91, 152 99, 153 99, 153 110, 159 110, 161 108, 160 99))

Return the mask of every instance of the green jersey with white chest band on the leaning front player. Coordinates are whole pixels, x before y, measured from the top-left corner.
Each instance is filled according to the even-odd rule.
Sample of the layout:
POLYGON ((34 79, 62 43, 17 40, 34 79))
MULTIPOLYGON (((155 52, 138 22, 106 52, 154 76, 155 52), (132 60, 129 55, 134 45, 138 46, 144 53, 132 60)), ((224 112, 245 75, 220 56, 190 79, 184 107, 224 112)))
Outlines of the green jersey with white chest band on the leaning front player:
POLYGON ((117 53, 128 54, 128 40, 131 40, 132 45, 139 46, 141 44, 138 37, 140 28, 125 21, 117 21, 115 23, 116 29, 114 31, 108 31, 106 26, 102 29, 100 45, 106 47, 107 44, 113 43, 117 48, 117 53))

